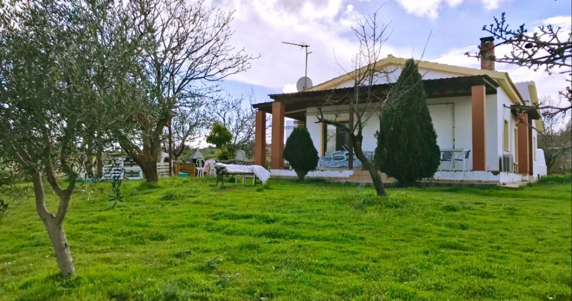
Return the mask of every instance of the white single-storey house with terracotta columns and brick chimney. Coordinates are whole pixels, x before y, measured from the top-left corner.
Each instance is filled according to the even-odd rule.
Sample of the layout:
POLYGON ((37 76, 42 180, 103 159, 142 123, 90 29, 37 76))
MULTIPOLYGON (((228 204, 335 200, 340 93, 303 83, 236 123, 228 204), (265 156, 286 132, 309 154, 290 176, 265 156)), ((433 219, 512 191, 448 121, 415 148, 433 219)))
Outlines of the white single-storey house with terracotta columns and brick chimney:
MULTIPOLYGON (((491 38, 481 39, 482 45, 494 54, 491 38)), ((376 68, 394 70, 386 85, 394 82, 406 62, 404 58, 388 55, 376 62, 376 68)), ((483 60, 481 69, 472 69, 419 61, 424 89, 428 95, 430 115, 438 135, 443 154, 464 159, 468 166, 457 161, 443 162, 442 170, 434 175, 435 181, 509 184, 525 183, 546 174, 542 150, 537 150, 537 130, 542 130, 539 111, 535 108, 538 95, 534 82, 514 83, 506 72, 495 71, 494 62, 483 60)), ((356 70, 358 72, 359 70, 356 70)), ((332 95, 348 95, 353 91, 352 77, 341 75, 327 82, 297 93, 272 94, 272 102, 253 105, 256 113, 255 162, 265 158, 265 114, 272 114, 271 175, 295 176, 284 170, 284 118, 292 118, 297 126, 307 127, 320 156, 327 162, 332 152, 352 152, 351 141, 333 126, 316 123, 316 99, 332 95)), ((349 110, 339 106, 327 112, 327 118, 349 120, 349 110)), ((363 150, 373 152, 375 132, 379 119, 374 114, 363 131, 363 150)), ((349 156, 348 156, 349 157, 349 156)), ((343 159, 343 156, 342 156, 343 159)), ((340 162, 343 160, 336 160, 340 162)), ((353 160, 341 166, 321 166, 310 177, 355 178, 360 168, 353 160)))

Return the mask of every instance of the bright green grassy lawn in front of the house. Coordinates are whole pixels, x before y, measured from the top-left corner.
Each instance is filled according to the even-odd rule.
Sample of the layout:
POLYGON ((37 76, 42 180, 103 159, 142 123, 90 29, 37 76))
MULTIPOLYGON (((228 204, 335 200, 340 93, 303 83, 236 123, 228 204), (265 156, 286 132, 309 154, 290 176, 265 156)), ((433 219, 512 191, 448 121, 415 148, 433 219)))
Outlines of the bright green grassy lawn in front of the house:
MULTIPOLYGON (((77 189, 63 280, 32 199, 0 222, 0 300, 570 300, 570 183, 390 189, 214 179, 77 189), (264 298, 261 298, 264 297, 264 298)), ((47 190, 49 191, 49 190, 47 190)), ((55 198, 49 193, 50 206, 55 198)))

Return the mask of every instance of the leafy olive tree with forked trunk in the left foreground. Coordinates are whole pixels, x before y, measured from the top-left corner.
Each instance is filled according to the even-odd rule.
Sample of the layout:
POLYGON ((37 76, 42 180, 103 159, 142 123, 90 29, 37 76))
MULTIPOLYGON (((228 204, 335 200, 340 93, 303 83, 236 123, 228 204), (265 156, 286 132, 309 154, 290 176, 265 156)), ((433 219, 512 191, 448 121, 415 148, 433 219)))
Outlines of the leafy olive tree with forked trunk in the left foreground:
POLYGON ((0 3, 0 154, 31 178, 36 210, 64 276, 75 272, 63 220, 86 154, 85 137, 100 130, 96 125, 109 114, 99 101, 129 86, 121 73, 132 55, 120 37, 129 25, 105 26, 106 37, 118 34, 109 39, 113 45, 97 35, 98 16, 113 8, 104 2, 0 3), (108 78, 105 88, 98 77, 108 78), (46 206, 44 178, 59 199, 57 211, 46 206))

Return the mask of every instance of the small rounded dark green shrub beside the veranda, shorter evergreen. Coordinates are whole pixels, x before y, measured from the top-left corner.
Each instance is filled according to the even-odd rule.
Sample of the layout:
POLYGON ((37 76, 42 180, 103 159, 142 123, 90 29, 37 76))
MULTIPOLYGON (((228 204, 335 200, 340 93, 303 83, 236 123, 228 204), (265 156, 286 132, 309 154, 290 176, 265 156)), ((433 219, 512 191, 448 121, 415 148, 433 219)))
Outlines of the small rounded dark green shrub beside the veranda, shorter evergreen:
POLYGON ((318 151, 305 127, 295 127, 284 146, 284 159, 296 171, 300 181, 318 166, 318 151))

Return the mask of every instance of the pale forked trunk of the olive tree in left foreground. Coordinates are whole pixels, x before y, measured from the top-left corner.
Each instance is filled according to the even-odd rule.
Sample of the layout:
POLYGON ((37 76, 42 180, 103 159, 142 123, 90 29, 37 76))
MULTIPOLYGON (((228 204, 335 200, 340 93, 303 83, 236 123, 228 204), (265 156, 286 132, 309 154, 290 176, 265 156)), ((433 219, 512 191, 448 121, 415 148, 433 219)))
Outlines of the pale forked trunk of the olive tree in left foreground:
POLYGON ((54 247, 55 261, 58 263, 59 272, 63 276, 71 276, 76 273, 73 264, 72 252, 67 243, 66 234, 63 231, 63 218, 67 212, 70 194, 59 196, 59 207, 56 215, 52 214, 46 207, 46 195, 43 191, 42 178, 39 172, 32 176, 34 184, 34 195, 36 210, 39 218, 46 226, 47 234, 50 236, 51 245, 54 247))

